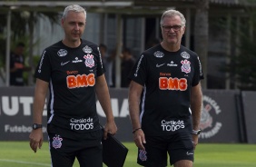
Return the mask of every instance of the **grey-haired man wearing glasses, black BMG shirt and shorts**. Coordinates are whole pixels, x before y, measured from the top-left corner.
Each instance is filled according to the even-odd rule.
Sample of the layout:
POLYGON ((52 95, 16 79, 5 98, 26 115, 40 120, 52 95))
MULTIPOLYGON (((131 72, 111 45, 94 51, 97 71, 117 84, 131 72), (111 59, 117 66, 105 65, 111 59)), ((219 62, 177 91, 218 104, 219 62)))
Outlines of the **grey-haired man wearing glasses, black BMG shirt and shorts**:
POLYGON ((144 51, 129 76, 129 112, 138 163, 192 167, 202 107, 202 67, 181 45, 185 18, 168 10, 161 18, 162 42, 144 51), (192 116, 192 123, 191 123, 192 116))

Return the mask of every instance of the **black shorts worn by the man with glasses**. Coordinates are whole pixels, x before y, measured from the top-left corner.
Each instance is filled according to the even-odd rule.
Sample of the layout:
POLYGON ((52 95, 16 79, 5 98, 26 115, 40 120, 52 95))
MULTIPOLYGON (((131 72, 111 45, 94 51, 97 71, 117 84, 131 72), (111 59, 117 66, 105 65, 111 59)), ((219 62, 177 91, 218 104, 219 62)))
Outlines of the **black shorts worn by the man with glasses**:
POLYGON ((145 152, 138 150, 138 164, 147 167, 167 166, 167 152, 171 165, 180 160, 193 162, 191 133, 174 133, 170 136, 145 136, 145 152))

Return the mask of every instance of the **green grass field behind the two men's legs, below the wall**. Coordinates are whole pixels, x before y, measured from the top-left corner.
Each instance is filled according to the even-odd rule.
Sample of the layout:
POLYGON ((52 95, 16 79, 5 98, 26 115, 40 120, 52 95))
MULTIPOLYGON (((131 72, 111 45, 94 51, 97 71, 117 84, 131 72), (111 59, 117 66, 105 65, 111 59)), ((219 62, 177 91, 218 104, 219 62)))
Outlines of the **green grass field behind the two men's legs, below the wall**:
MULTIPOLYGON (((129 149, 124 167, 139 166, 133 142, 123 142, 129 149)), ((201 143, 195 151, 194 167, 255 167, 256 144, 201 143)), ((0 167, 51 166, 48 143, 34 153, 29 142, 0 142, 0 167)), ((74 163, 74 167, 79 167, 74 163)))

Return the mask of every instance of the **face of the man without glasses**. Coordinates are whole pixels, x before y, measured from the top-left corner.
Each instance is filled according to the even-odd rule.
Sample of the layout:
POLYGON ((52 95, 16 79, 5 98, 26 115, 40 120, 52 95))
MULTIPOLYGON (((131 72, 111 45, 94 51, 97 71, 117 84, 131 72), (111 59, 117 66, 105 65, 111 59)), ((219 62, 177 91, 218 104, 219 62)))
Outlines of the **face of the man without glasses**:
POLYGON ((65 38, 70 42, 80 40, 84 34, 85 15, 83 12, 68 12, 66 17, 62 19, 65 38))

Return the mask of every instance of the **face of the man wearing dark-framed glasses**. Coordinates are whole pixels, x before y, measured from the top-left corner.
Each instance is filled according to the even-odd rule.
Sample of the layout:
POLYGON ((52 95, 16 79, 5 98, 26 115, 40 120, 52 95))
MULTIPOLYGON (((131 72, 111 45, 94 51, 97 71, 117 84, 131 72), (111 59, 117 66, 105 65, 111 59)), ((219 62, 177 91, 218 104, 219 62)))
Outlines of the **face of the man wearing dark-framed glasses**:
POLYGON ((166 44, 180 45, 185 32, 181 17, 178 15, 164 17, 162 21, 162 41, 166 44))

